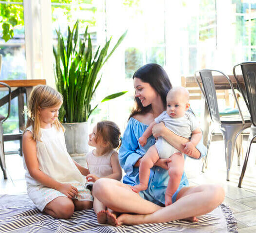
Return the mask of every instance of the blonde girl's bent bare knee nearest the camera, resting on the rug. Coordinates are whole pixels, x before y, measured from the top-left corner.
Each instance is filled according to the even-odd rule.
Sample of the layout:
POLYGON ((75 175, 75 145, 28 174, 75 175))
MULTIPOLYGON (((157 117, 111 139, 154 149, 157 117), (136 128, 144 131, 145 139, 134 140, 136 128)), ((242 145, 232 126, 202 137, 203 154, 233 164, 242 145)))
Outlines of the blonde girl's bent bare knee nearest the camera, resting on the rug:
POLYGON ((55 218, 70 218, 74 213, 73 200, 68 197, 57 197, 49 202, 43 212, 55 218))

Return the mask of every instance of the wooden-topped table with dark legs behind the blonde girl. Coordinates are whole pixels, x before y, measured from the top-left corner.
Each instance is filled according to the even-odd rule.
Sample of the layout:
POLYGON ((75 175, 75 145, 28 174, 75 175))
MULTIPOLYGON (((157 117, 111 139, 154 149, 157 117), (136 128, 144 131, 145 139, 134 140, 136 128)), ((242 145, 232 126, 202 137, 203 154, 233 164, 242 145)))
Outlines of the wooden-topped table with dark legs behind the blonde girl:
MULTIPOLYGON (((18 134, 4 134, 3 141, 20 141, 20 154, 22 154, 22 143, 21 136, 25 127, 25 116, 23 114, 24 110, 24 94, 26 94, 26 102, 28 103, 28 98, 34 86, 39 84, 46 85, 45 79, 23 79, 23 80, 0 80, 0 82, 8 84, 11 89, 11 99, 18 97, 18 127, 20 133, 18 134)), ((0 88, 6 88, 0 85, 0 88)), ((8 103, 8 96, 4 96, 0 99, 0 107, 8 103)))

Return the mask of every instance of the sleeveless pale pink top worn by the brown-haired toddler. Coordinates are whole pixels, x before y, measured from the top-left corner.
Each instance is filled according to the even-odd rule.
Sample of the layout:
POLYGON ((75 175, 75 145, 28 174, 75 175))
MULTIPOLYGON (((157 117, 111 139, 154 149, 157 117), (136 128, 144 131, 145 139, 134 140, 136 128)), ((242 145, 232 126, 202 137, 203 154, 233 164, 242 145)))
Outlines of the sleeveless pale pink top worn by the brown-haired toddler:
POLYGON ((113 152, 114 150, 111 150, 102 156, 95 156, 93 154, 93 150, 88 152, 86 155, 86 161, 90 173, 100 178, 112 174, 110 159, 113 152))

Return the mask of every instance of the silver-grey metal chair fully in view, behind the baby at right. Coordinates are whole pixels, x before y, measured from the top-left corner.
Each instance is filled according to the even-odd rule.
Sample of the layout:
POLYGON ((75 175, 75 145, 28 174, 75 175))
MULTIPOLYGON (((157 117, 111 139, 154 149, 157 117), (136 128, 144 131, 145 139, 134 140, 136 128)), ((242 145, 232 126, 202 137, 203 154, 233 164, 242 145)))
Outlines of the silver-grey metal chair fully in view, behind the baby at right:
MULTIPOLYGON (((207 149, 209 149, 213 130, 216 128, 216 125, 217 125, 219 126, 219 129, 224 139, 225 158, 226 158, 226 167, 227 167, 227 180, 229 181, 230 168, 233 161, 236 140, 239 134, 245 128, 250 127, 252 123, 250 119, 244 119, 238 104, 238 99, 235 94, 234 87, 227 75, 225 75, 223 72, 216 71, 216 70, 201 70, 201 71, 195 72, 195 79, 205 98, 205 101, 207 103, 208 114, 210 115, 210 119, 211 119, 211 124, 209 125, 209 129, 207 130, 208 131, 207 149), (229 115, 229 116, 220 117, 218 100, 216 95, 216 88, 215 88, 212 72, 218 72, 227 79, 238 107, 239 116, 229 115), (199 73, 200 75, 197 75, 197 73, 199 73)), ((207 116, 205 115, 205 117, 207 116)), ((208 158, 208 152, 203 161, 203 167, 207 162, 207 158, 208 158)))

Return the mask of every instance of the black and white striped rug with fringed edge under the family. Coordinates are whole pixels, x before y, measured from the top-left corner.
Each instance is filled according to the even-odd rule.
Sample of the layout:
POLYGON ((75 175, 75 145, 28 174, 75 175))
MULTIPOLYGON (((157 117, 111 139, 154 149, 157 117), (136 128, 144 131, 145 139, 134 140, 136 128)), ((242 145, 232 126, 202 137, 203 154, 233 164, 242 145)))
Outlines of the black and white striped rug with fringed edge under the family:
POLYGON ((68 219, 42 214, 27 195, 0 195, 0 233, 237 233, 236 220, 221 204, 197 223, 172 221, 160 224, 112 227, 99 224, 93 210, 75 212, 68 219))

